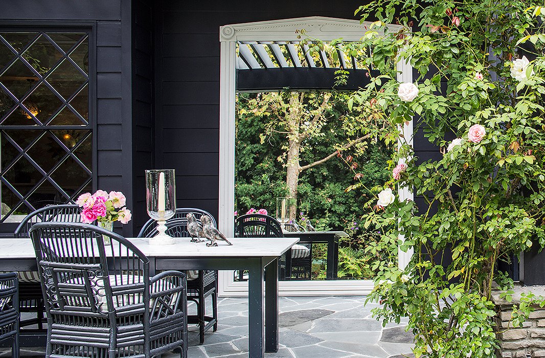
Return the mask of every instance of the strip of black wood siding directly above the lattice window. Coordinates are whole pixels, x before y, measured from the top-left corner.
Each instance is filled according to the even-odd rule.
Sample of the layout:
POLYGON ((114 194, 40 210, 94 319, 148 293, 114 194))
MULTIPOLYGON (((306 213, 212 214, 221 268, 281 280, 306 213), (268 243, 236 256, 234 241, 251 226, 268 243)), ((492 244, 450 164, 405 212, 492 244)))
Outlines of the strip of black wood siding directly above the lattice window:
POLYGON ((121 20, 120 0, 2 0, 2 19, 121 20))

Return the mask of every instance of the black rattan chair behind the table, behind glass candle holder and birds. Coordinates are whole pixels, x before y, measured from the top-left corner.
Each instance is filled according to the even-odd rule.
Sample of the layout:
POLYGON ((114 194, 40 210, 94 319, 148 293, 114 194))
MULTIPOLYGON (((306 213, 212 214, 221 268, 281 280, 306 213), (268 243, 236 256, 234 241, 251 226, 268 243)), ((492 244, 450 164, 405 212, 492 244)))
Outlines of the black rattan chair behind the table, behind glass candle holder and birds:
MULTIPOLYGON (((212 222, 216 225, 216 220, 210 213, 201 209, 195 208, 179 208, 171 219, 166 222, 167 234, 175 238, 187 238, 187 214, 193 213, 198 222, 201 222, 202 215, 208 215, 212 218, 212 222)), ((139 238, 149 238, 157 234, 157 223, 155 220, 149 220, 140 230, 139 238)), ((188 272, 188 277, 191 277, 192 272, 188 272)), ((197 275, 195 275, 197 276, 197 275)), ((194 277, 194 276, 193 276, 194 277)), ((217 271, 200 270, 198 276, 194 280, 187 280, 187 300, 195 302, 197 305, 197 315, 188 316, 190 324, 196 323, 199 326, 199 341, 204 343, 204 332, 213 328, 217 330, 217 271), (212 299, 212 315, 206 315, 205 300, 211 296, 212 299)))

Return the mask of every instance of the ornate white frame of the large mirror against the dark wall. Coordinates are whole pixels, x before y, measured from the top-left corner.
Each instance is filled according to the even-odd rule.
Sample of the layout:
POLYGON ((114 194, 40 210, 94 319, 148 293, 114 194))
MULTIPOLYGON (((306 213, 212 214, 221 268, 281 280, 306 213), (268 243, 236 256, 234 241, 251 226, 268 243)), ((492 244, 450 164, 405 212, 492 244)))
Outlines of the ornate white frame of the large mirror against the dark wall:
MULTIPOLYGON (((272 20, 239 23, 220 27, 220 190, 219 229, 226 236, 234 234, 234 185, 235 185, 235 81, 237 41, 298 41, 296 30, 305 29, 311 38, 331 41, 343 38, 358 41, 367 31, 370 22, 334 19, 330 17, 301 17, 298 19, 272 20)), ((392 31, 401 28, 389 25, 392 31)), ((413 82, 410 64, 398 62, 399 82, 413 82)), ((413 142, 413 122, 404 126, 405 138, 413 142)), ((399 190, 399 199, 413 199, 408 189, 399 190)), ((400 251, 399 266, 404 267, 411 253, 400 251)), ((283 296, 315 295, 365 295, 373 289, 372 280, 342 281, 280 281, 279 294, 283 296)), ((220 272, 219 294, 221 296, 247 296, 247 282, 234 282, 233 271, 220 272)))

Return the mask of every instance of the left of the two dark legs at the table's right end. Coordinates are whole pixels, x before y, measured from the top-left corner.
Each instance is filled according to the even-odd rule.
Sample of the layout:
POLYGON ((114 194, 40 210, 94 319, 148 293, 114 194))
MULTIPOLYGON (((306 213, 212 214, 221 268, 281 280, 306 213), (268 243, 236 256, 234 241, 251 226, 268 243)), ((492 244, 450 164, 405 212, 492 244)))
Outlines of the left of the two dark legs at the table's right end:
MULTIPOLYGON (((263 357, 265 337, 265 306, 263 265, 261 258, 252 259, 248 268, 248 345, 251 358, 263 357)), ((276 274, 277 275, 277 274, 276 274)))

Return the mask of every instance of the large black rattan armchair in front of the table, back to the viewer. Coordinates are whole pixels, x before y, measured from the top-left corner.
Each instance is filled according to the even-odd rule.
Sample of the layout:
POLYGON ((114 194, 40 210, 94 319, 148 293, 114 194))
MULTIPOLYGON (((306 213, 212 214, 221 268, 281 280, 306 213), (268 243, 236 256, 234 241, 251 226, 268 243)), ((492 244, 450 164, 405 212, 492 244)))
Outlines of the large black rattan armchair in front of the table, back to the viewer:
POLYGON ((90 224, 30 230, 47 313, 46 358, 187 356, 186 277, 149 277, 130 241, 90 224), (111 245, 104 244, 104 236, 111 245))

